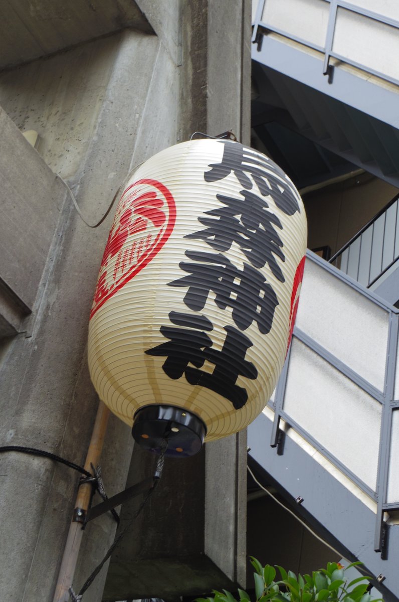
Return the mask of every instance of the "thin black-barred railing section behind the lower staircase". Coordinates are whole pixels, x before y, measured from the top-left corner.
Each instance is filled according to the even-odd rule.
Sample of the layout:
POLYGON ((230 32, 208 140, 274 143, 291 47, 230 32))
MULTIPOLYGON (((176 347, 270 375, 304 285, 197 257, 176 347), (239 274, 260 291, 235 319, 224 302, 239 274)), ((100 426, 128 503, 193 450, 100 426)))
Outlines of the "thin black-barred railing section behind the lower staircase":
POLYGON ((370 288, 399 258, 399 195, 329 260, 370 288))

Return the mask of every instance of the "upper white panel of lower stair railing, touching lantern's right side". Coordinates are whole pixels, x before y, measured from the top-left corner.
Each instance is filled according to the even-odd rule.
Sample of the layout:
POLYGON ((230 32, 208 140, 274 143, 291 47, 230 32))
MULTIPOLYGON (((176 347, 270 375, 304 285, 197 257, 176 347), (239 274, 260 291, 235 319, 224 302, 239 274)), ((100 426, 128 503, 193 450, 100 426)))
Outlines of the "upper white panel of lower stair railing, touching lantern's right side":
POLYGON ((297 326, 383 391, 389 313, 306 261, 297 326))

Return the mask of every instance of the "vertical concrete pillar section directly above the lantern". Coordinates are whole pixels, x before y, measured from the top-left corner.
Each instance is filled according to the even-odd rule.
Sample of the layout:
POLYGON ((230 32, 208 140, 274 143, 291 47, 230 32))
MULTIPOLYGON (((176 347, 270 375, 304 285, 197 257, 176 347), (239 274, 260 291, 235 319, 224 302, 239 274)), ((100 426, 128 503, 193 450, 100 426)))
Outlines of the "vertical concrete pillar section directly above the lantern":
POLYGON ((185 2, 182 139, 234 131, 250 143, 251 2, 185 2))

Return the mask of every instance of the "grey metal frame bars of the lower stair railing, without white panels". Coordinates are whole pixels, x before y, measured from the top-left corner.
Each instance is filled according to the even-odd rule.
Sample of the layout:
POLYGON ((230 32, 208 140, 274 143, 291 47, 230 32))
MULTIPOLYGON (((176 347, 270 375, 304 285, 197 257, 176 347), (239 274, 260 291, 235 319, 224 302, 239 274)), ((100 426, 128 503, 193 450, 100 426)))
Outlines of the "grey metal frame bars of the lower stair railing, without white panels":
POLYGON ((385 537, 385 523, 383 521, 383 514, 386 510, 397 510, 399 509, 399 500, 394 503, 388 503, 386 500, 388 493, 388 475, 389 475, 389 456, 391 450, 391 430, 392 430, 392 412, 395 409, 399 409, 399 400, 394 400, 394 387, 395 387, 395 371, 397 362, 397 346, 399 337, 399 309, 394 306, 384 303, 382 299, 375 296, 367 288, 362 287, 358 282, 351 279, 349 276, 340 272, 337 268, 328 264, 317 255, 308 251, 306 253, 307 260, 312 261, 327 272, 332 273, 336 278, 344 281, 345 284, 355 289, 363 296, 368 297, 373 303, 385 309, 389 314, 389 326, 388 326, 388 342, 386 349, 386 360, 385 360, 385 376, 383 390, 380 391, 370 382, 365 380, 360 374, 348 367, 344 362, 336 358, 328 350, 324 349, 317 341, 309 337, 305 332, 294 328, 294 337, 305 344, 309 349, 317 353, 325 361, 329 362, 336 370, 344 374, 351 382, 359 386, 360 389, 365 391, 368 395, 373 397, 377 402, 382 405, 382 416, 381 416, 381 427, 380 427, 380 441, 379 441, 379 461, 377 465, 377 478, 376 478, 376 491, 370 488, 364 483, 356 474, 352 473, 341 461, 330 453, 326 448, 323 447, 317 440, 315 440, 305 429, 298 425, 288 414, 284 411, 284 397, 286 382, 289 372, 289 357, 291 348, 288 352, 285 365, 283 367, 282 374, 279 382, 277 383, 276 393, 274 396, 274 420, 271 432, 271 447, 277 447, 277 453, 282 453, 279 450, 279 438, 280 438, 280 420, 283 419, 290 427, 296 432, 303 436, 315 449, 329 459, 339 470, 342 471, 351 481, 356 483, 365 494, 369 495, 372 499, 377 501, 377 517, 376 517, 376 528, 374 535, 374 550, 382 553, 382 557, 385 555, 386 550, 386 537, 385 537))

